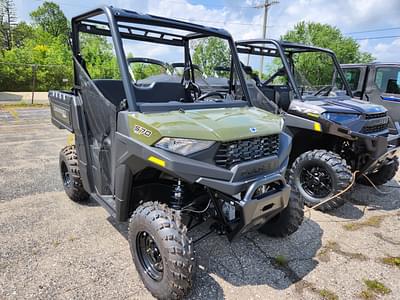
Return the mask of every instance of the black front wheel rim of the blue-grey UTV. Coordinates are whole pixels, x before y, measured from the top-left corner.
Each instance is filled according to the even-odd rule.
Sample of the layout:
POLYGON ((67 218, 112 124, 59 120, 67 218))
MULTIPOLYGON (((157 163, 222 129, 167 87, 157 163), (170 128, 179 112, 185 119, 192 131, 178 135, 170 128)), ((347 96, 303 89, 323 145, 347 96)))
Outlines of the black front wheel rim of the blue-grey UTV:
POLYGON ((322 166, 304 166, 300 173, 300 185, 303 190, 314 198, 325 198, 332 194, 332 177, 322 166))

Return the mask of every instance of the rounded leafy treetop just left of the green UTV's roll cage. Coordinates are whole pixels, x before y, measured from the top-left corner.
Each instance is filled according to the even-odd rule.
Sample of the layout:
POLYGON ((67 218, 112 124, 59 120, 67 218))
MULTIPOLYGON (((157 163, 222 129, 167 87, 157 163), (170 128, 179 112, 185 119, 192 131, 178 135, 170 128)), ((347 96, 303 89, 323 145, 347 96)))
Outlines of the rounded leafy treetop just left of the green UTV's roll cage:
POLYGON ((34 24, 52 36, 61 36, 65 40, 68 38, 68 20, 58 4, 45 1, 30 16, 34 24))

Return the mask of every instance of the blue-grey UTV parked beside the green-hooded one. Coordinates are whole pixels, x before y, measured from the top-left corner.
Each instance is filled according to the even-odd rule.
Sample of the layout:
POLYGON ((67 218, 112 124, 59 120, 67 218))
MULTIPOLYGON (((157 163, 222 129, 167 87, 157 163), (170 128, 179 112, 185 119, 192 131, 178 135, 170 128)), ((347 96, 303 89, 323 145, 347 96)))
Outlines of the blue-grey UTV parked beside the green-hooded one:
MULTIPOLYGON (((318 209, 323 211, 343 205, 345 194, 323 201, 346 189, 352 172, 359 172, 358 182, 367 182, 365 174, 375 185, 395 176, 399 125, 389 130, 384 107, 351 98, 332 51, 276 40, 236 44, 242 61, 264 56, 270 62, 265 78, 249 66, 245 72, 255 89, 286 112, 285 132, 293 137, 289 183, 307 205, 321 204, 318 209), (313 70, 307 68, 310 64, 313 70), (338 82, 344 90, 336 87, 338 82)), ((262 108, 265 102, 256 99, 253 104, 262 108)))

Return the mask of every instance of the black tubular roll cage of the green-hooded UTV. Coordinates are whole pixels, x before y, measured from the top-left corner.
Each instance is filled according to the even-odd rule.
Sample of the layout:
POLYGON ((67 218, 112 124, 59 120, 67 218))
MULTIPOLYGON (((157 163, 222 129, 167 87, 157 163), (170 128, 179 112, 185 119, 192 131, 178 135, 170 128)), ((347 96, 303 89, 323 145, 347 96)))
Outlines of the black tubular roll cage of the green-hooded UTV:
MULTIPOLYGON (((248 105, 251 105, 250 94, 247 90, 246 81, 244 78, 243 71, 240 67, 239 57, 236 51, 235 43, 232 36, 224 29, 218 29, 213 27, 206 27, 203 25, 187 23, 184 21, 168 19, 164 17, 141 14, 135 11, 126 9, 114 8, 112 6, 102 6, 100 8, 88 11, 81 15, 72 18, 72 52, 73 56, 81 62, 80 56, 80 43, 79 33, 90 33, 94 35, 108 36, 112 38, 115 53, 117 56, 117 62, 127 97, 128 109, 131 111, 138 111, 138 105, 136 103, 135 91, 131 83, 131 76, 129 72, 129 66, 127 63, 125 51, 122 44, 122 39, 138 40, 144 42, 159 43, 171 46, 181 46, 185 49, 185 65, 191 69, 193 76, 193 65, 189 54, 189 41, 192 39, 198 39, 203 37, 219 37, 225 39, 229 43, 232 63, 236 65, 241 88, 243 89, 244 96, 247 100, 248 105), (92 18, 104 15, 107 21, 94 20, 92 18), (184 31, 190 31, 188 35, 179 35, 169 32, 162 32, 159 30, 153 30, 149 28, 140 28, 135 26, 129 26, 123 23, 151 25, 164 28, 172 28, 184 31)), ((75 64, 76 62, 74 62, 75 64)), ((232 77, 231 72, 231 77, 232 77)), ((74 91, 77 93, 79 90, 79 77, 77 76, 77 68, 74 67, 74 78, 75 88, 74 91)), ((230 81, 230 91, 232 90, 232 80, 230 81)))

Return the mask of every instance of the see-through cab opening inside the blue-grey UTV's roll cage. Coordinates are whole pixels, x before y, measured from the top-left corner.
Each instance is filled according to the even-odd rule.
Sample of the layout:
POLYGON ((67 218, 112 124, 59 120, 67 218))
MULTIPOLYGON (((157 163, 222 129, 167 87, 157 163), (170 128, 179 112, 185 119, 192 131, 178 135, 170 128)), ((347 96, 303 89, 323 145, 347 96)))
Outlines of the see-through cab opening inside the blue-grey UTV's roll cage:
POLYGON ((347 93, 343 91, 342 77, 334 80, 338 72, 330 53, 299 46, 278 46, 275 41, 239 42, 237 46, 247 79, 267 98, 279 105, 282 99, 289 103, 293 98, 317 100, 347 93))

